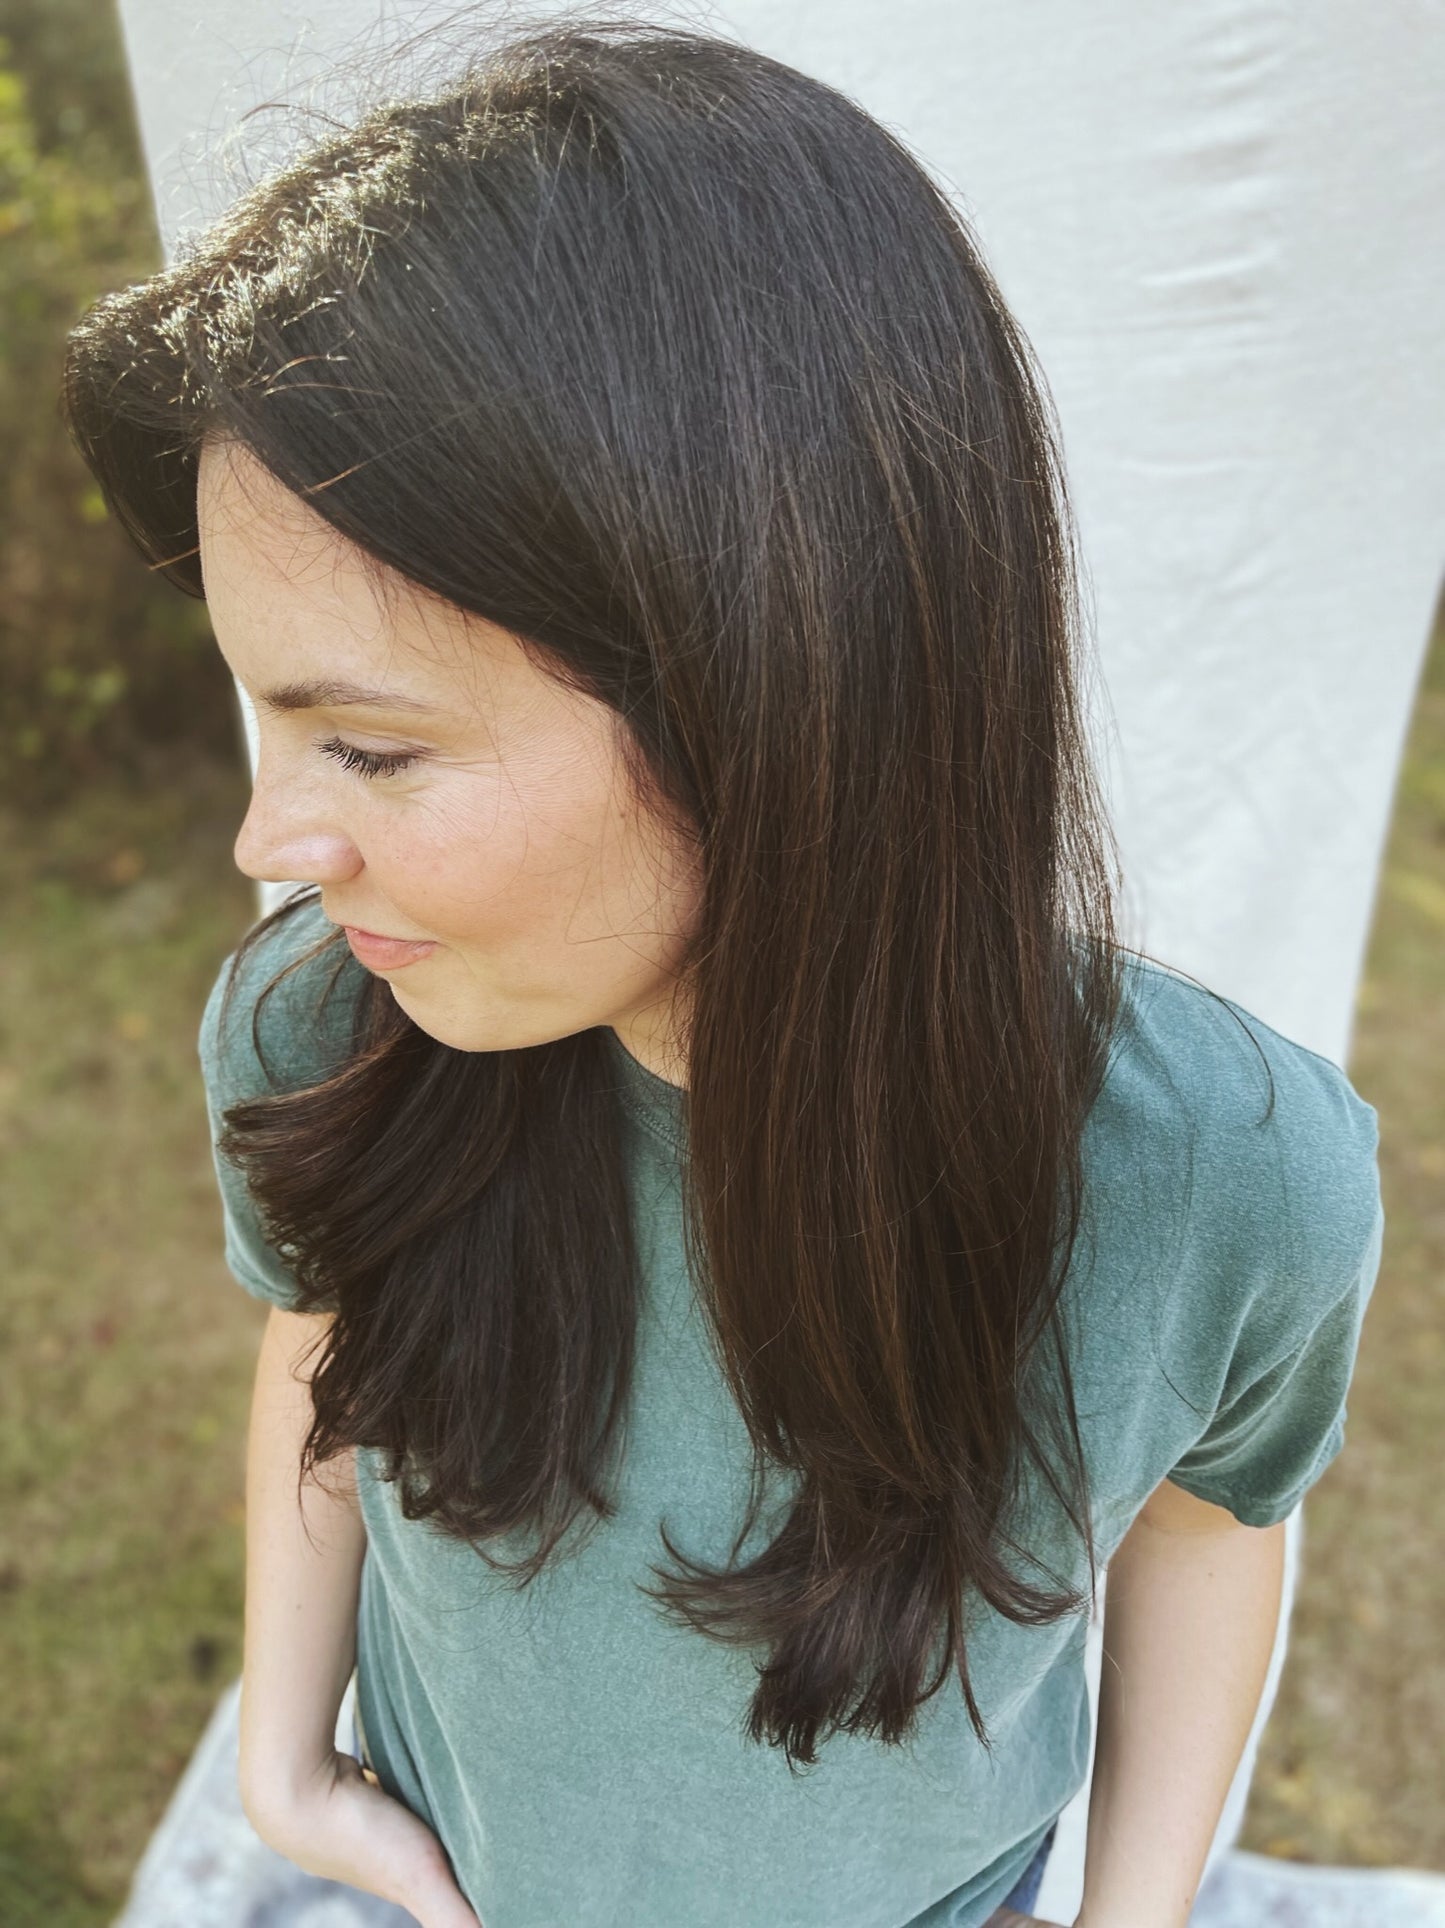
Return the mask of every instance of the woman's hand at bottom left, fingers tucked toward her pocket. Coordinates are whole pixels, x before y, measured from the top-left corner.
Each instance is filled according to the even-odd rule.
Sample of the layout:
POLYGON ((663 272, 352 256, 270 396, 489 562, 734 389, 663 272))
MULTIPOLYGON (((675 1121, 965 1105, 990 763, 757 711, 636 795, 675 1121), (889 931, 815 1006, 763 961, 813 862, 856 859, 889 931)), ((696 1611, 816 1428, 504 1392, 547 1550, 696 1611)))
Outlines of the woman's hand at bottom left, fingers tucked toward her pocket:
POLYGON ((426 1822, 340 1749, 286 1801, 257 1797, 245 1812, 307 1874, 395 1901, 421 1928, 482 1928, 426 1822))

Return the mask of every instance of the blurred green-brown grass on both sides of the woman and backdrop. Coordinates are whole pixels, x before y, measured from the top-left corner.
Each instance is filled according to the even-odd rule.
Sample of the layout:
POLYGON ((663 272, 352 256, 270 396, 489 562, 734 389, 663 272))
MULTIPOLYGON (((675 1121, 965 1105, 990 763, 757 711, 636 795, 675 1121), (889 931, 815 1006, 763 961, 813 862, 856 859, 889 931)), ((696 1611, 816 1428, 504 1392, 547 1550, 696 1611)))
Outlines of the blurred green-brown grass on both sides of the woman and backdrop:
MULTIPOLYGON (((264 1307, 220 1255, 195 1031, 255 895, 245 771, 0 816, 0 1920, 96 1928, 241 1664, 264 1307)), ((1389 1232, 1242 1843, 1445 1864, 1445 630, 1401 777, 1350 1076, 1389 1232)))

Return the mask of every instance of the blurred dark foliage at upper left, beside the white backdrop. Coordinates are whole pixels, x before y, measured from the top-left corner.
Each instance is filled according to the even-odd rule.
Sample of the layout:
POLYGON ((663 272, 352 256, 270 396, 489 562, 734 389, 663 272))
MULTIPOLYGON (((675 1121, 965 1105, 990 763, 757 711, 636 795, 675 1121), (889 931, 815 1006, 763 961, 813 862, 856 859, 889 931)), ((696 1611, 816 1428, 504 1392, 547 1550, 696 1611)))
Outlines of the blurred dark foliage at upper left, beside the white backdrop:
POLYGON ((147 750, 239 744, 203 603, 150 575, 60 420, 66 334, 162 264, 114 6, 6 0, 0 35, 0 796, 64 804, 147 750))

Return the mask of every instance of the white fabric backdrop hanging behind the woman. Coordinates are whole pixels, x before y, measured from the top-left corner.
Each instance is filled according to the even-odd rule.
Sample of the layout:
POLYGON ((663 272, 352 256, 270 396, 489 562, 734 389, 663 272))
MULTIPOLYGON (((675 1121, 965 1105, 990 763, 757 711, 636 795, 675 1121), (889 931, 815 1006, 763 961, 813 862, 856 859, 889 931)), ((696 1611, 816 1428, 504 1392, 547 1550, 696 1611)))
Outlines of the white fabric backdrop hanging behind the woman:
MULTIPOLYGON (((247 110, 453 10, 120 12, 170 256, 241 185, 226 156, 255 174, 286 137, 247 110)), ((1445 567, 1445 0, 733 0, 687 23, 851 93, 972 222, 1063 426, 1125 935, 1347 1064, 1445 567)), ((1295 1513, 1212 1862, 1300 1544, 1295 1513)), ((1088 1785, 1036 1901, 1063 1922, 1088 1785)))

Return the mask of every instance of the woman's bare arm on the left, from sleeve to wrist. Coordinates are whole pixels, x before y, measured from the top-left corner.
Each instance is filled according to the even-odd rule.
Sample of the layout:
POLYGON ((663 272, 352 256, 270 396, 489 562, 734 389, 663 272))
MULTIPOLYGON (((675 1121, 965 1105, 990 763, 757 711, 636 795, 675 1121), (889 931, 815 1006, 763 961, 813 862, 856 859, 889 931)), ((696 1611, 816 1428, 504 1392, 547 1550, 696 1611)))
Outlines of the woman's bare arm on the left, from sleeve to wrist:
POLYGON ((272 1307, 251 1396, 239 1783, 241 1807, 259 1832, 332 1762, 336 1716, 357 1658, 367 1527, 355 1456, 322 1467, 338 1498, 307 1481, 297 1504, 301 1444, 313 1417, 301 1361, 328 1325, 326 1313, 272 1307))

